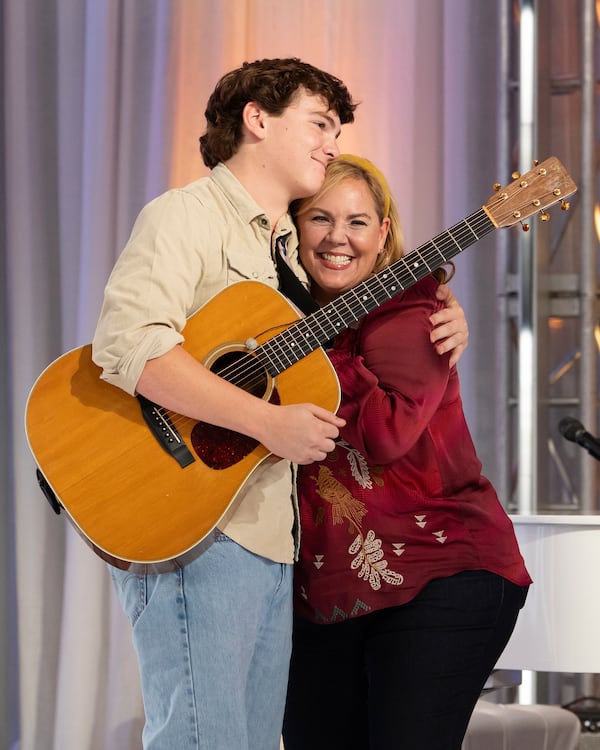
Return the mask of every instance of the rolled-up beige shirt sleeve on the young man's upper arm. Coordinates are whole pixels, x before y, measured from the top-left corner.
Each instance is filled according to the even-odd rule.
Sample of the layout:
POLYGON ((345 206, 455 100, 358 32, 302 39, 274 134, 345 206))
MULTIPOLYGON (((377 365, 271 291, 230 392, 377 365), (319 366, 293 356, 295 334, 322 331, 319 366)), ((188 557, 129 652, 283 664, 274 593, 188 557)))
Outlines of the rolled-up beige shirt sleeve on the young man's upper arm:
POLYGON ((184 191, 149 203, 108 280, 92 357, 104 380, 132 395, 146 362, 183 342, 203 275, 199 213, 184 191))

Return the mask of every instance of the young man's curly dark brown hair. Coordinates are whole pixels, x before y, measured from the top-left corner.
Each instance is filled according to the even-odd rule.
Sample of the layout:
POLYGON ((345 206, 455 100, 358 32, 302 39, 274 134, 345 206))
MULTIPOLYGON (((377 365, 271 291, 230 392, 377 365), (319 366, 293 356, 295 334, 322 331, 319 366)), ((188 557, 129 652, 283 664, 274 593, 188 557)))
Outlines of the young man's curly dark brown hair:
POLYGON ((256 102, 270 115, 280 115, 301 88, 322 96, 342 124, 354 121, 357 103, 344 83, 330 73, 295 57, 245 62, 219 80, 206 105, 206 132, 200 136, 206 166, 212 169, 238 150, 248 102, 256 102))

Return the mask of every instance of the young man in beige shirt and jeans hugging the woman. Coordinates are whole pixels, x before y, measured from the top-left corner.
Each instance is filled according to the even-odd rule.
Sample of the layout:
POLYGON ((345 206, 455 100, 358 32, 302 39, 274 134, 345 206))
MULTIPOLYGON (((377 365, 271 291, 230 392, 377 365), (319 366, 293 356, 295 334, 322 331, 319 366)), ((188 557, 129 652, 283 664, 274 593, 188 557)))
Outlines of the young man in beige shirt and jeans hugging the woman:
MULTIPOLYGON (((290 462, 323 459, 343 422, 313 404, 257 398, 180 344, 186 319, 224 287, 244 279, 278 286, 280 238, 306 278, 288 205, 319 189, 355 106, 340 80, 296 59, 226 74, 200 139, 210 175, 141 211, 106 288, 93 342, 102 377, 272 454, 188 565, 159 575, 111 568, 133 625, 146 750, 279 748, 296 546, 290 462)), ((458 305, 438 338, 457 331, 457 320, 457 338, 442 346, 464 341, 458 305)), ((202 492, 190 502, 202 502, 202 492)))

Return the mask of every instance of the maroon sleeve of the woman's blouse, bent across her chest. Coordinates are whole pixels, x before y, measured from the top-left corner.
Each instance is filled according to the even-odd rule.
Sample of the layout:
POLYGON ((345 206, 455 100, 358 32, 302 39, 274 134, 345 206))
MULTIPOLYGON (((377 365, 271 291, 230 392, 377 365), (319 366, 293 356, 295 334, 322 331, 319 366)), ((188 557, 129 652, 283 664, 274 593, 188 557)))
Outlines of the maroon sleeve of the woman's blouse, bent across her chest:
POLYGON ((407 290, 369 315, 355 346, 342 340, 329 352, 342 389, 341 436, 370 463, 409 451, 445 397, 449 355, 437 354, 429 338, 429 316, 441 307, 436 286, 407 290))

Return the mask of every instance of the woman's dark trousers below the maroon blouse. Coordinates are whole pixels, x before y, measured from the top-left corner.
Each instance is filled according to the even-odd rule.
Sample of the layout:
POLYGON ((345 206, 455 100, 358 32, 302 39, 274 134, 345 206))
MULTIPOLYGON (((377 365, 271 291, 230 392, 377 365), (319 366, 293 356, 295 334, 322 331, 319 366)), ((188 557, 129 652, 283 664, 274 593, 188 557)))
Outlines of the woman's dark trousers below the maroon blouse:
POLYGON ((356 619, 295 618, 285 750, 460 750, 526 596, 476 570, 356 619))

